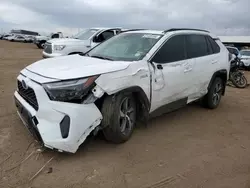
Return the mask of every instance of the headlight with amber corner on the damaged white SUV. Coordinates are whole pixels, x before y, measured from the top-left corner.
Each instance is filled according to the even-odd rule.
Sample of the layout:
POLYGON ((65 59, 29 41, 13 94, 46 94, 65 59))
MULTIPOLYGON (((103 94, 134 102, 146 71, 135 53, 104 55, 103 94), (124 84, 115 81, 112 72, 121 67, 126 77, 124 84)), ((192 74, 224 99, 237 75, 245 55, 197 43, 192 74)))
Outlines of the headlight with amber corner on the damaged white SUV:
POLYGON ((54 101, 80 102, 91 89, 98 76, 43 84, 49 98, 54 101))

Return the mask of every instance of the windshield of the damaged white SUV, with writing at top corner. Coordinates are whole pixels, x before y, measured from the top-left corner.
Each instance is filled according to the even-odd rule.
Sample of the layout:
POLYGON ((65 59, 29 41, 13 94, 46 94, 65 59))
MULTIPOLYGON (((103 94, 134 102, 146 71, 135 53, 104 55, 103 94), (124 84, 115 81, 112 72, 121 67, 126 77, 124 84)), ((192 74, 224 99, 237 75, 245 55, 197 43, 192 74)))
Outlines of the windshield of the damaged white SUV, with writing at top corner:
POLYGON ((123 33, 101 43, 87 55, 115 61, 138 61, 161 37, 160 34, 123 33))

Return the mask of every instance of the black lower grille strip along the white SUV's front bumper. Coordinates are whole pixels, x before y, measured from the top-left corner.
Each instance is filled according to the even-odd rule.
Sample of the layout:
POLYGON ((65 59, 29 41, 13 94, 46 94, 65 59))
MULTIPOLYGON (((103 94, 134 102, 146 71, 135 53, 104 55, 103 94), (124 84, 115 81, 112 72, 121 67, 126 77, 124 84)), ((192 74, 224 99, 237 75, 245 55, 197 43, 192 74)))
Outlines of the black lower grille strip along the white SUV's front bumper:
POLYGON ((22 119, 24 125, 29 130, 31 135, 43 145, 42 137, 37 129, 38 120, 35 116, 32 116, 24 107, 23 105, 14 97, 15 105, 18 110, 18 114, 22 119))

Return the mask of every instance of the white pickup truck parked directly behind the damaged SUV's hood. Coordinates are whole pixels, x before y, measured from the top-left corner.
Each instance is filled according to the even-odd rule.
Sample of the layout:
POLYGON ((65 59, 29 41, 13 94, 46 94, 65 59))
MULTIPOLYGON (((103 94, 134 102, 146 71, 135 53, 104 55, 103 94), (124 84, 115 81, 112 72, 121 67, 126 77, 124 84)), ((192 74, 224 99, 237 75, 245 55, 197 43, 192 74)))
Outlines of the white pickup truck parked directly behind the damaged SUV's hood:
POLYGON ((76 34, 73 38, 52 39, 45 43, 43 57, 85 53, 120 32, 121 28, 91 28, 76 34))

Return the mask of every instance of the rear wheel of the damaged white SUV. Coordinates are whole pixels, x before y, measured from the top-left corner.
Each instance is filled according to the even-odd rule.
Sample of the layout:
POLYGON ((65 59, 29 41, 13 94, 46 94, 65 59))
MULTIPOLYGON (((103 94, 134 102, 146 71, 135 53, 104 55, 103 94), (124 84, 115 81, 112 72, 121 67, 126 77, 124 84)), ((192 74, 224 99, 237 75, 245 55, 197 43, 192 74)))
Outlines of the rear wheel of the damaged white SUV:
POLYGON ((202 100, 202 104, 204 107, 209 109, 215 109, 219 106, 220 100, 222 97, 223 87, 225 87, 222 79, 220 77, 216 77, 213 80, 211 87, 208 90, 208 93, 202 100))

